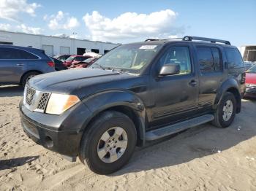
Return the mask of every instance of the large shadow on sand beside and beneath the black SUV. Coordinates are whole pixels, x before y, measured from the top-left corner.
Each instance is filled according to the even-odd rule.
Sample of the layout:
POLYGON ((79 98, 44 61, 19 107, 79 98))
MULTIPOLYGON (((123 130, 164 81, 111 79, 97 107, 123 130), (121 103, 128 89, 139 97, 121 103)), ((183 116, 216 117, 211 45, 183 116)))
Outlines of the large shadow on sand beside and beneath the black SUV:
MULTIPOLYGON (((146 147, 136 150, 124 168, 108 176, 165 168, 224 152, 256 136, 255 112, 256 100, 243 100, 242 112, 236 115, 230 128, 216 128, 207 123, 172 136, 171 139, 169 137, 148 143, 146 147)), ((249 155, 246 154, 248 152, 256 155, 256 146, 252 145, 250 151, 239 152, 243 152, 244 157, 249 155)))

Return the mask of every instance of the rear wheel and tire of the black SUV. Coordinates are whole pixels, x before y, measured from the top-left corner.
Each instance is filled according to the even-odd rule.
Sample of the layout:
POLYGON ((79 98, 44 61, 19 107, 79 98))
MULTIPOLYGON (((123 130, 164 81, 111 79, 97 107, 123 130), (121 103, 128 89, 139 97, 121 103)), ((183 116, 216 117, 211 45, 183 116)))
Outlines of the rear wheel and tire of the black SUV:
POLYGON ((214 112, 214 121, 212 123, 218 128, 227 128, 231 125, 235 116, 236 98, 233 93, 226 92, 223 95, 216 112, 214 112))

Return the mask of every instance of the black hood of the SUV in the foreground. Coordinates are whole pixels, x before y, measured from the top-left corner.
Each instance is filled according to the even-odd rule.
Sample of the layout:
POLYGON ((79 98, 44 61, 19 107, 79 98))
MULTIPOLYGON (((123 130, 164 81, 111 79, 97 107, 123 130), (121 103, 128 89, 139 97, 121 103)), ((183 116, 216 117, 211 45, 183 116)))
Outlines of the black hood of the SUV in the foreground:
POLYGON ((83 98, 97 91, 133 86, 130 79, 136 78, 138 77, 110 70, 69 69, 38 75, 29 80, 29 85, 42 92, 78 95, 83 98), (129 83, 122 83, 122 80, 129 83))

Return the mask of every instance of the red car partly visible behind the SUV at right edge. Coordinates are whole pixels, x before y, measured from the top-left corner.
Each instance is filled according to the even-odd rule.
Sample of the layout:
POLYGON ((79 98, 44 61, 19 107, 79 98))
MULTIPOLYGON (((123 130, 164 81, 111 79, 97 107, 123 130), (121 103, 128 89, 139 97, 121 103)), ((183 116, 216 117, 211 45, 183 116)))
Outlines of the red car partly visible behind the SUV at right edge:
POLYGON ((245 96, 256 98, 256 66, 246 71, 245 85, 245 96))

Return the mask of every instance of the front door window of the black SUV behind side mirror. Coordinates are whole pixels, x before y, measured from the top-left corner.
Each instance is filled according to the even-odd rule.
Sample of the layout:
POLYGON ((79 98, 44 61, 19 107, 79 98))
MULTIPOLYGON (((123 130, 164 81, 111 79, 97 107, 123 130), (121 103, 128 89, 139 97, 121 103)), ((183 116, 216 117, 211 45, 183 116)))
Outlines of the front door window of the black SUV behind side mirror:
POLYGON ((191 73, 189 47, 170 47, 160 58, 160 66, 176 64, 180 66, 179 74, 191 73))

